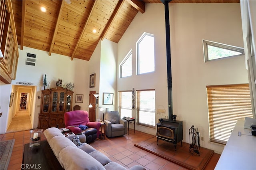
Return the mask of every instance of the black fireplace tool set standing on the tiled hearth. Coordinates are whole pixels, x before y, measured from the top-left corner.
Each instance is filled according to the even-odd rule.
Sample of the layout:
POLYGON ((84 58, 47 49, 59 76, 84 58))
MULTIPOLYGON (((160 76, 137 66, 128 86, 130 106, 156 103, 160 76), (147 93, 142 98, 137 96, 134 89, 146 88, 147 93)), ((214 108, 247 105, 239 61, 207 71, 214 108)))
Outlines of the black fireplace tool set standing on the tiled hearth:
POLYGON ((191 152, 192 155, 195 152, 196 154, 198 154, 198 156, 200 156, 200 153, 199 153, 200 134, 199 134, 198 128, 195 128, 194 125, 192 125, 192 127, 188 128, 188 130, 189 130, 189 144, 190 144, 189 152, 191 152))

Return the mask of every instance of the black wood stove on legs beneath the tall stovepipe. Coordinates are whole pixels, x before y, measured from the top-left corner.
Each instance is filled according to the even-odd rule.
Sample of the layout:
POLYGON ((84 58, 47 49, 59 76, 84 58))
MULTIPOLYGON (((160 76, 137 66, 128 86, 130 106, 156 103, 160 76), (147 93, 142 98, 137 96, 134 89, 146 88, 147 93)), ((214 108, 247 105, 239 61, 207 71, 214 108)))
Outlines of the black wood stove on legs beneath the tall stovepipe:
POLYGON ((182 121, 172 121, 168 119, 163 119, 162 123, 157 123, 157 144, 158 140, 164 140, 166 142, 171 142, 174 144, 175 150, 176 145, 180 142, 182 146, 183 140, 183 125, 182 121))

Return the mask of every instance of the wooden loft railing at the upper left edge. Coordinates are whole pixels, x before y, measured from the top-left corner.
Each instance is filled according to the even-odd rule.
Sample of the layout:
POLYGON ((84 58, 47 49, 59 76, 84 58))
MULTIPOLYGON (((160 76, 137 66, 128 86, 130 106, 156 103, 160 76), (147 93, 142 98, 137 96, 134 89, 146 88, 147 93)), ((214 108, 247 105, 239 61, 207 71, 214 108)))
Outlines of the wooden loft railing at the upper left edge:
POLYGON ((0 23, 0 77, 2 82, 11 84, 16 79, 19 53, 10 0, 0 1, 0 23))

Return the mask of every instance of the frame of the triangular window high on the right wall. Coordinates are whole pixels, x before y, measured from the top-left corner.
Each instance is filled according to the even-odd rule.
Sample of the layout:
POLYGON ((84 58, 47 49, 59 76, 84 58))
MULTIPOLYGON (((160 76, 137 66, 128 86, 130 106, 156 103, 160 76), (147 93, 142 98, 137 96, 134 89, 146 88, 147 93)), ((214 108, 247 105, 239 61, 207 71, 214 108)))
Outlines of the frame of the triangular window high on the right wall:
POLYGON ((203 40, 203 50, 204 50, 204 62, 205 63, 207 61, 214 61, 214 60, 219 60, 219 59, 225 59, 225 58, 237 57, 237 56, 244 55, 244 48, 242 48, 242 47, 236 47, 236 46, 227 45, 227 44, 224 44, 224 43, 212 42, 212 41, 208 41, 208 40, 203 40), (209 57, 208 57, 208 45, 218 47, 218 48, 222 48, 222 49, 227 49, 227 50, 230 50, 230 51, 240 52, 241 54, 230 55, 230 56, 221 57, 221 58, 217 58, 217 59, 209 59, 209 57))

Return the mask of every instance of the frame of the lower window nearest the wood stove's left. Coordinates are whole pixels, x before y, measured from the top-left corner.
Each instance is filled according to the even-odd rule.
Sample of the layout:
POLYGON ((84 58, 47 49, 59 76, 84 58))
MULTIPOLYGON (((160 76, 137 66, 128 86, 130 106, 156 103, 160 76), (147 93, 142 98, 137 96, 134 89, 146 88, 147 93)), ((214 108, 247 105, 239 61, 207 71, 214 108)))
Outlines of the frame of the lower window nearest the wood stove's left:
POLYGON ((156 90, 155 89, 144 89, 144 90, 136 90, 136 121, 137 121, 137 125, 142 125, 145 127, 150 127, 150 128, 156 128, 156 90), (145 124, 145 123, 141 123, 140 122, 140 99, 138 99, 138 97, 140 97, 140 95, 138 95, 138 92, 140 91, 154 91, 155 92, 155 96, 154 96, 154 109, 152 111, 150 111, 150 109, 148 109, 148 113, 153 113, 154 114, 154 126, 153 125, 149 125, 149 124, 145 124))

